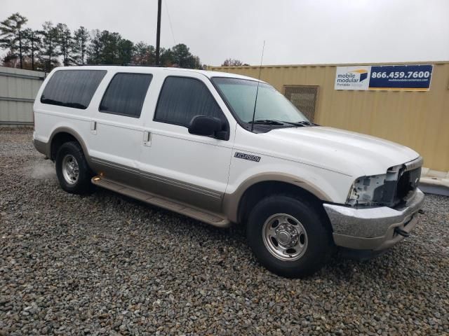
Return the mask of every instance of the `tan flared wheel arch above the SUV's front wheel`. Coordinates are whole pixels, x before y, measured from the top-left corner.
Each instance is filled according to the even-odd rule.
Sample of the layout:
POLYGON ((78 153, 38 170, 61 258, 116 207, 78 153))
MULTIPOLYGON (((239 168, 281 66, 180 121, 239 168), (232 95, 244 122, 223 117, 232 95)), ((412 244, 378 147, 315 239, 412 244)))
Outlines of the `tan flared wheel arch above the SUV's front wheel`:
POLYGON ((223 209, 230 221, 242 223, 257 202, 274 193, 307 197, 321 204, 332 202, 320 188, 288 174, 260 174, 241 183, 232 194, 226 194, 223 209))

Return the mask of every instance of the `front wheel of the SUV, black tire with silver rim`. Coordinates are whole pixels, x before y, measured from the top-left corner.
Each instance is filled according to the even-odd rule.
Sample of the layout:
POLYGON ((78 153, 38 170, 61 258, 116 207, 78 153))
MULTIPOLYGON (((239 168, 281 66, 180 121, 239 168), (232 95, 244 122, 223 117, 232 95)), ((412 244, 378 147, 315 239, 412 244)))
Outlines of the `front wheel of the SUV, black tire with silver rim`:
POLYGON ((333 252, 328 218, 318 204, 286 195, 264 198, 247 223, 257 260, 280 276, 304 277, 320 269, 333 252))

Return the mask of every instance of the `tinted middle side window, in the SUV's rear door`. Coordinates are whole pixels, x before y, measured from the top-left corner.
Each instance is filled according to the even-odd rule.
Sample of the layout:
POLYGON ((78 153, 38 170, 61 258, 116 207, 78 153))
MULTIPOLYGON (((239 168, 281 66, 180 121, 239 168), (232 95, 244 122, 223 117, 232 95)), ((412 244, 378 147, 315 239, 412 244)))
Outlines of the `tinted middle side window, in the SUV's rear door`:
POLYGON ((116 73, 100 104, 100 112, 139 118, 153 75, 116 73))

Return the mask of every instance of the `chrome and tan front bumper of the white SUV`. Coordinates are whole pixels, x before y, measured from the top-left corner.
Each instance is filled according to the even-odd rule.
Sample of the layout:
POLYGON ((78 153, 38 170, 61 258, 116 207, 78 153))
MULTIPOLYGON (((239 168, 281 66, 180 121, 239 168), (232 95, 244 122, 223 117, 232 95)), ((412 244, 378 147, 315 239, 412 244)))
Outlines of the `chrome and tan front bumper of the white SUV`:
POLYGON ((358 250, 382 251, 401 241, 396 228, 409 233, 417 223, 424 193, 415 195, 400 207, 347 207, 323 204, 333 228, 335 245, 358 250))

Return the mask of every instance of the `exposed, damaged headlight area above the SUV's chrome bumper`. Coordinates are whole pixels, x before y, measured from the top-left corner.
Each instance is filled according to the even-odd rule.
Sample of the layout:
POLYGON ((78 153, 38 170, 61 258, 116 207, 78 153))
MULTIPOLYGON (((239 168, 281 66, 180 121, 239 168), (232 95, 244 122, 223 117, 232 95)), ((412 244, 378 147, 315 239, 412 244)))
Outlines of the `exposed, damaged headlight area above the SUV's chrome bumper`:
POLYGON ((346 204, 376 205, 396 190, 396 182, 402 165, 391 167, 386 174, 361 176, 352 183, 346 204))

